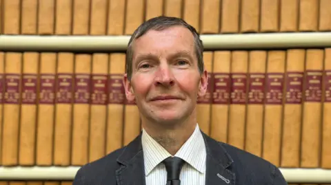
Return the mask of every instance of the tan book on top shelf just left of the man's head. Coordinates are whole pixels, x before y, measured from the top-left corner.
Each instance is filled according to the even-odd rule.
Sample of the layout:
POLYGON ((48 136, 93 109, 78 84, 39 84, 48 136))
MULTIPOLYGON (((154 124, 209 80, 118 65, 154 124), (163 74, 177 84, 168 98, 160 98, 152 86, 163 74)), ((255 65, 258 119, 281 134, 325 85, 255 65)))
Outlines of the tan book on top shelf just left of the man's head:
POLYGON ((126 16, 126 1, 108 0, 108 35, 123 34, 126 16))

